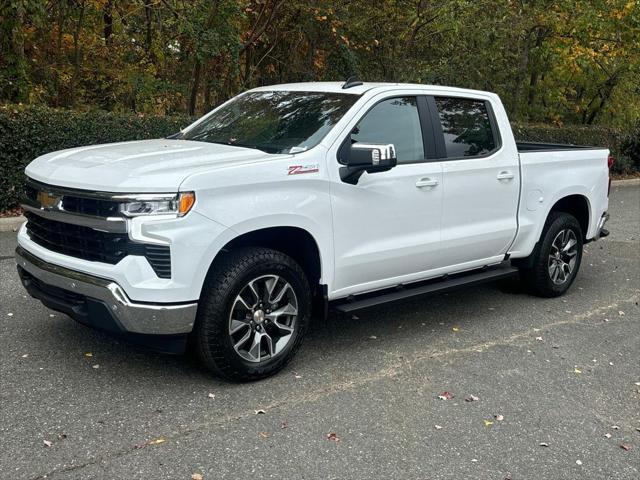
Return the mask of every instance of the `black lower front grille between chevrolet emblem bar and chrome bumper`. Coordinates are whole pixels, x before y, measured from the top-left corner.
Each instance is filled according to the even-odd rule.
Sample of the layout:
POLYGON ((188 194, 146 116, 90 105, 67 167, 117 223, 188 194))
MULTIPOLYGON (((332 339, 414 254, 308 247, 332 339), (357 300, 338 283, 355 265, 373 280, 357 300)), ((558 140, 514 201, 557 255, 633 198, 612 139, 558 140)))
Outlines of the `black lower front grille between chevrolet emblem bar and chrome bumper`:
POLYGON ((100 232, 26 212, 29 238, 47 250, 115 265, 127 255, 146 257, 159 278, 171 278, 171 251, 166 245, 131 241, 126 233, 100 232))

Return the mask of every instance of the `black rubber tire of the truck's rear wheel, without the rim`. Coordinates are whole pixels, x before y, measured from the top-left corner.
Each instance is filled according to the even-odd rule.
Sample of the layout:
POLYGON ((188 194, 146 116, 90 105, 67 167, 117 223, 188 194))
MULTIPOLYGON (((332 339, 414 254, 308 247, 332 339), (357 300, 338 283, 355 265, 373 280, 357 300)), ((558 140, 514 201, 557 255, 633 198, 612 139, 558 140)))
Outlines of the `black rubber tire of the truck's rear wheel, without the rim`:
POLYGON ((580 223, 573 215, 564 212, 551 212, 542 230, 540 242, 538 242, 531 254, 531 267, 520 268, 520 278, 528 290, 535 295, 547 298, 559 297, 564 294, 575 280, 580 269, 583 238, 580 223), (575 262, 570 273, 567 274, 566 270, 562 269, 564 278, 558 278, 554 281, 551 272, 553 271, 555 274, 556 270, 553 268, 553 260, 550 255, 552 255, 552 250, 557 252, 552 245, 563 231, 571 231, 575 237, 575 262), (562 283, 557 283, 560 280, 562 280, 562 283))

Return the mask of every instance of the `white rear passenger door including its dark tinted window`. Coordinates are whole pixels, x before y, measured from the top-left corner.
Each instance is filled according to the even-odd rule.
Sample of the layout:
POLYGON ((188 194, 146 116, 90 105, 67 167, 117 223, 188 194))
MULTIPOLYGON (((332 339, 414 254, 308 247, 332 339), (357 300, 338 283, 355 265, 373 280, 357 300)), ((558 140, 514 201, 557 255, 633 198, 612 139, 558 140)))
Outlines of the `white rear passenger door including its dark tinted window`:
POLYGON ((439 266, 491 263, 517 229, 517 152, 503 146, 488 99, 432 96, 428 104, 443 168, 439 266))

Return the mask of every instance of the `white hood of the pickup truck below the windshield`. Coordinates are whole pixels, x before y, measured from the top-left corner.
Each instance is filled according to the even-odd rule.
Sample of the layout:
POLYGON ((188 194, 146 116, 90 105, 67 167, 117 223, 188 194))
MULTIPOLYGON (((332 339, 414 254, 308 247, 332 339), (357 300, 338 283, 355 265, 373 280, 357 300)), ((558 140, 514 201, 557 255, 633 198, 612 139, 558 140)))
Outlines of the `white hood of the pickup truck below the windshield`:
POLYGON ((141 140, 48 153, 25 172, 43 183, 83 190, 176 192, 194 173, 288 156, 188 140, 141 140))

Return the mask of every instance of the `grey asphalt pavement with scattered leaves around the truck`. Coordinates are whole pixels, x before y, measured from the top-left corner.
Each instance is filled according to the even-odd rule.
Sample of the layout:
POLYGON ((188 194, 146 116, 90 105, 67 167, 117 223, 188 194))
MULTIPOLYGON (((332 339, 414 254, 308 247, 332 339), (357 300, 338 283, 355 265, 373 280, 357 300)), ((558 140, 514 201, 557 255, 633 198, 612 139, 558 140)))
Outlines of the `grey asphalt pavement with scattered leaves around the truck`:
POLYGON ((640 188, 611 213, 561 299, 511 282, 332 315, 241 385, 27 298, 0 234, 0 477, 637 479, 640 188))

